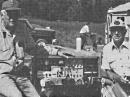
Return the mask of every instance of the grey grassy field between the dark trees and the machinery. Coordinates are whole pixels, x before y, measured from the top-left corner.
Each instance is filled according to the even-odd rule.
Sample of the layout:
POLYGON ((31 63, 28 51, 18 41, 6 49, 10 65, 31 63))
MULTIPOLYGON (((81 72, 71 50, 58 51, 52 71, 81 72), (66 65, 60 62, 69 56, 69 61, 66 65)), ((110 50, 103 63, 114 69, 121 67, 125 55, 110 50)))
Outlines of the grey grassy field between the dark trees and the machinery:
MULTIPOLYGON (((56 39, 59 40, 59 45, 65 47, 76 48, 76 37, 79 36, 79 31, 87 22, 79 21, 48 21, 43 19, 29 18, 33 24, 41 25, 42 27, 51 26, 56 31, 56 39)), ((105 36, 105 23, 90 23, 90 32, 96 33, 97 38, 105 36)))

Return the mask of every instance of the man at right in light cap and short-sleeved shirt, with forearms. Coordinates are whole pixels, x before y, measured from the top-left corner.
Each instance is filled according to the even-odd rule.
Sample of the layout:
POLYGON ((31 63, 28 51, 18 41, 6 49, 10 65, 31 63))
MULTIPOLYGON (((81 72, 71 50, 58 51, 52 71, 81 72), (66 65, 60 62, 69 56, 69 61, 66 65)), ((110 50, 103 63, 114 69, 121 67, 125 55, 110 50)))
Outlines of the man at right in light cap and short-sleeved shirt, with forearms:
POLYGON ((112 41, 103 48, 101 66, 102 83, 107 85, 126 82, 126 77, 130 76, 130 45, 124 40, 126 25, 121 19, 116 19, 111 23, 110 31, 112 41))

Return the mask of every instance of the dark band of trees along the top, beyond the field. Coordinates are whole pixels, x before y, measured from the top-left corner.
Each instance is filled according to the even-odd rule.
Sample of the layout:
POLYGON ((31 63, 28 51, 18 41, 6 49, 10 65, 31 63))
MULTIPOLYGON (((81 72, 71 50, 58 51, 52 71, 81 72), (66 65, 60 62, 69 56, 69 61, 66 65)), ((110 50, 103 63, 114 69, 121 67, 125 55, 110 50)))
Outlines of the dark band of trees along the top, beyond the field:
MULTIPOLYGON (((5 0, 0 0, 0 4, 5 0)), ((23 15, 49 21, 105 22, 107 10, 130 0, 17 0, 23 15)))

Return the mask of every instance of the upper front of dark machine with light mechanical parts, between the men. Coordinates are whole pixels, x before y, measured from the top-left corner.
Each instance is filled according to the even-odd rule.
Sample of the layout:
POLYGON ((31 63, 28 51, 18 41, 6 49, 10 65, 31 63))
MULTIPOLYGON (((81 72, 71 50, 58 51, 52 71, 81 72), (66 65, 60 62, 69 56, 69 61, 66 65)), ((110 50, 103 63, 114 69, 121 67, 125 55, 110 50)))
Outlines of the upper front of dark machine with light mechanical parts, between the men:
MULTIPOLYGON (((55 85, 62 85, 62 80, 69 77, 74 82, 82 81, 82 84, 98 77, 98 57, 87 58, 62 58, 52 56, 49 58, 34 58, 32 65, 32 82, 38 85, 40 82, 52 80, 55 85), (85 78, 86 77, 86 78, 85 78), (39 82, 38 82, 39 81, 39 82)), ((40 87, 41 84, 39 84, 40 87)))

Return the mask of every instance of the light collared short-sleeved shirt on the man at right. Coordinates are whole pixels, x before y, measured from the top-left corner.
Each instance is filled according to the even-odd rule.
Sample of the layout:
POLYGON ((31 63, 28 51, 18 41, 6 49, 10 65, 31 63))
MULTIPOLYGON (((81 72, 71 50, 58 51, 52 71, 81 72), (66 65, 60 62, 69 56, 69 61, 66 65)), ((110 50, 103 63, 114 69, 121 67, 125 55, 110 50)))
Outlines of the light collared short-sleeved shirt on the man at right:
POLYGON ((130 44, 126 41, 120 48, 114 42, 103 48, 102 69, 112 69, 120 76, 130 76, 130 44))

